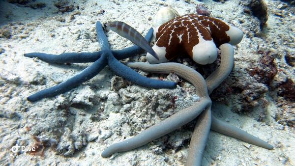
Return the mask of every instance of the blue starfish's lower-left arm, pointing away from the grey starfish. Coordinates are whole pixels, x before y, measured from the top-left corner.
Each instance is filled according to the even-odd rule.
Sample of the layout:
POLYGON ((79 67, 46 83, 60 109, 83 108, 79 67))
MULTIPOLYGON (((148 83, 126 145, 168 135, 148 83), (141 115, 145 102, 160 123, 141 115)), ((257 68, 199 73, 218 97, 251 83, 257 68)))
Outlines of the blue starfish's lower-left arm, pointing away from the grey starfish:
POLYGON ((99 59, 97 59, 92 65, 84 69, 78 75, 68 79, 65 82, 59 83, 56 86, 41 90, 33 95, 30 95, 27 100, 30 102, 35 102, 41 100, 45 97, 54 97, 61 93, 64 93, 81 83, 84 83, 95 75, 97 75, 105 66, 107 65, 107 57, 103 54, 99 59))

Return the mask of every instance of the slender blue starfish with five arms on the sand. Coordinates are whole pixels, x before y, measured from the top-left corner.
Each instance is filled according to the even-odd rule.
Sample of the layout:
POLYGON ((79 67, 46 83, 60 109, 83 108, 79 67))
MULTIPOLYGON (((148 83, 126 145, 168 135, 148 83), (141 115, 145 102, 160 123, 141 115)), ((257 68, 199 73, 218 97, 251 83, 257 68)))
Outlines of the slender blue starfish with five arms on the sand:
MULTIPOLYGON (((35 94, 30 95, 27 99, 30 102, 41 100, 45 97, 54 97, 61 93, 64 93, 81 83, 84 83, 95 75, 97 75, 106 65, 109 65, 110 69, 117 75, 125 78, 126 80, 153 88, 174 88, 176 83, 168 81, 160 81, 148 79, 131 68, 125 66, 118 59, 124 59, 136 55, 142 51, 138 46, 132 46, 122 50, 113 51, 109 47, 107 36, 105 35, 100 22, 96 22, 97 41, 101 46, 101 51, 94 53, 63 53, 60 55, 49 55, 44 53, 29 53, 25 54, 26 57, 38 57, 49 63, 87 63, 94 62, 92 65, 84 69, 81 73, 68 79, 65 82, 59 83, 53 87, 41 90, 35 94)), ((150 41, 153 34, 151 28, 146 35, 146 40, 150 41)))

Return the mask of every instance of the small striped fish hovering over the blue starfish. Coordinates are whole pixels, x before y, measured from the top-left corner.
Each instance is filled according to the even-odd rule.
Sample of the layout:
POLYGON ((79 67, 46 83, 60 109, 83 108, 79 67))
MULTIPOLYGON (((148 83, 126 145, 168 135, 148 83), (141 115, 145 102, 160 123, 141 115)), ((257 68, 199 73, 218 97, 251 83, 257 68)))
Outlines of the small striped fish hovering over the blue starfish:
POLYGON ((130 40, 132 43, 146 50, 150 55, 159 60, 158 55, 148 45, 148 41, 137 30, 130 27, 128 24, 120 21, 114 21, 111 23, 107 23, 106 26, 114 32, 118 33, 120 36, 130 40))

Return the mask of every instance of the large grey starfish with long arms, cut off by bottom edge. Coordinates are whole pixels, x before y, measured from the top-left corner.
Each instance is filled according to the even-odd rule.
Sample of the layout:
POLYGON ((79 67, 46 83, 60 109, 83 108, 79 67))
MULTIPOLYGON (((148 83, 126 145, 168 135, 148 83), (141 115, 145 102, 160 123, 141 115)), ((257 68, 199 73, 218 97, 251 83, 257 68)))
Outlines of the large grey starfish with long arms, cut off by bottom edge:
POLYGON ((145 145, 154 139, 160 138, 178 129, 196 117, 198 117, 198 122, 191 138, 189 154, 186 163, 187 166, 201 165, 202 156, 210 129, 266 149, 273 149, 272 145, 261 140, 260 138, 256 138, 245 131, 236 128, 235 126, 226 124, 214 116, 211 116, 212 102, 209 98, 209 94, 225 78, 228 77, 234 65, 233 46, 230 44, 223 44, 220 46, 220 49, 221 64, 219 68, 206 79, 206 81, 197 71, 179 63, 161 63, 154 65, 142 62, 127 63, 127 66, 131 68, 138 68, 152 73, 176 73, 178 76, 192 83, 196 87, 196 93, 198 96, 200 96, 200 101, 149 127, 133 138, 129 138, 109 146, 102 152, 101 156, 109 157, 116 152, 128 151, 145 145))

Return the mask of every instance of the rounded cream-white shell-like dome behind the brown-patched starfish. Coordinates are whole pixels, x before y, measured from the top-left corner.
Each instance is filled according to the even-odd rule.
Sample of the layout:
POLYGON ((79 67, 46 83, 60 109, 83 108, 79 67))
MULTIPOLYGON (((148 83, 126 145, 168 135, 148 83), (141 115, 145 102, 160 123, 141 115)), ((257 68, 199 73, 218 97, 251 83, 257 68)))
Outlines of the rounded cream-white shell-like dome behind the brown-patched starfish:
POLYGON ((162 7, 155 15, 152 21, 153 27, 159 27, 179 16, 178 12, 172 7, 162 7))

